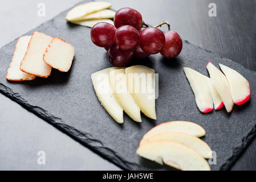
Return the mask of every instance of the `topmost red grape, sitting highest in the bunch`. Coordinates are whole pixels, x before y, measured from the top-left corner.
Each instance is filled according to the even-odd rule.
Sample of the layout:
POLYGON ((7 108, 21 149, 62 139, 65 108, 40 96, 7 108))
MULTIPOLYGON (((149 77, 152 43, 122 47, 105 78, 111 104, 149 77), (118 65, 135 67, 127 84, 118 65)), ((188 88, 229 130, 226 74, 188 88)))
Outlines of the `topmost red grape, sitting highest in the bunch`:
POLYGON ((123 25, 131 25, 137 30, 140 30, 142 27, 142 16, 138 11, 129 7, 124 7, 116 12, 114 24, 116 28, 123 25))

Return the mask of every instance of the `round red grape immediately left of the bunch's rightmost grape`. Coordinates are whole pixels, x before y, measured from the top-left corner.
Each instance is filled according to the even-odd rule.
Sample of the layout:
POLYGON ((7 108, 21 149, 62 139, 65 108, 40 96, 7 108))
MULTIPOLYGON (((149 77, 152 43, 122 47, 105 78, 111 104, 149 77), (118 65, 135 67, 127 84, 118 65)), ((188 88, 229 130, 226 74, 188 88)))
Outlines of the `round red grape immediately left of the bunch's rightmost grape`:
POLYGON ((148 27, 140 32, 140 47, 143 51, 153 55, 159 53, 164 44, 165 36, 161 30, 148 27))

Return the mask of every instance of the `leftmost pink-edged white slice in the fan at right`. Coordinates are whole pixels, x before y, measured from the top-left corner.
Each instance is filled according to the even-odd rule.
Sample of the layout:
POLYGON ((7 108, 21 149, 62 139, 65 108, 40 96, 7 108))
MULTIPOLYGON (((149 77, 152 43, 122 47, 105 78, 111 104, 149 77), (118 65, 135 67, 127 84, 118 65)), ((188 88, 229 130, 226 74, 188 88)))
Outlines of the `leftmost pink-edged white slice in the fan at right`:
POLYGON ((198 109, 202 113, 209 113, 213 110, 213 100, 206 83, 207 77, 197 71, 194 71, 194 69, 186 67, 183 69, 193 90, 198 109))

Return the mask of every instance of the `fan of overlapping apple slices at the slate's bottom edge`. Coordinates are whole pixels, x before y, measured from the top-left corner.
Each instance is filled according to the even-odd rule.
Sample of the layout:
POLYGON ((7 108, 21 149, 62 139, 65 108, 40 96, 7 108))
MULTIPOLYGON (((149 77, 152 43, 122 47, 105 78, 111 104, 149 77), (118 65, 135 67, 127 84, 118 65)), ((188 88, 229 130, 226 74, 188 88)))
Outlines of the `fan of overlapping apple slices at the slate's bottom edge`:
POLYGON ((205 159, 213 157, 212 150, 198 137, 205 130, 196 123, 171 121, 149 130, 140 141, 136 153, 156 163, 165 163, 185 171, 209 171, 205 159))

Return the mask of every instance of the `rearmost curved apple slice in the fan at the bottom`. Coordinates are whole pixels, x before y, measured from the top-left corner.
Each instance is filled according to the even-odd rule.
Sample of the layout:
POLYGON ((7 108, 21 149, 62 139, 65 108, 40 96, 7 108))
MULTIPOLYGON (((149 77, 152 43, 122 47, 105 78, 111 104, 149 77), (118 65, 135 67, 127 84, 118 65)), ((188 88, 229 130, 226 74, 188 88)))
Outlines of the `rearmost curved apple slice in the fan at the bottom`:
POLYGON ((149 130, 141 139, 140 144, 145 142, 145 140, 159 135, 161 133, 169 133, 169 132, 182 132, 186 134, 193 135, 195 137, 203 137, 205 135, 205 130, 196 123, 189 121, 169 121, 162 123, 153 127, 149 130))

